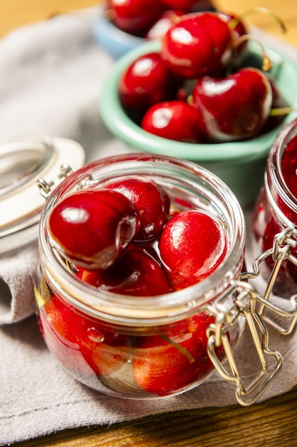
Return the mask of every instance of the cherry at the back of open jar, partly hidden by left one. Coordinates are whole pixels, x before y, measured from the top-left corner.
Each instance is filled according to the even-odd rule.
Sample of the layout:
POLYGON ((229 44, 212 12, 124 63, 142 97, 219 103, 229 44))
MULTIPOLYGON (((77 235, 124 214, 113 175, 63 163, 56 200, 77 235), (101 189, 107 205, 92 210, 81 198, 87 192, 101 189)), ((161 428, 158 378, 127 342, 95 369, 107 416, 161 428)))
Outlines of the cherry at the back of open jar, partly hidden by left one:
POLYGON ((113 181, 105 187, 124 194, 135 205, 140 215, 140 228, 135 240, 147 241, 158 236, 167 221, 170 199, 155 181, 133 176, 113 181))

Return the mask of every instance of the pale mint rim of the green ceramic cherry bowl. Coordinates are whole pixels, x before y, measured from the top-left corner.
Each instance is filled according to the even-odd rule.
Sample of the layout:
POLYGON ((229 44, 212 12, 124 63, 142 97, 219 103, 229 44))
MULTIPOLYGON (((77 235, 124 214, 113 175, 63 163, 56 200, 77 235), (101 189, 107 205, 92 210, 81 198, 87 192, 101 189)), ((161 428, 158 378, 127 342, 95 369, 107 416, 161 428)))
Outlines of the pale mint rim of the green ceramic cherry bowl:
MULTIPOLYGON (((132 61, 144 54, 159 51, 160 45, 160 41, 149 41, 128 51, 115 62, 103 85, 99 101, 100 116, 110 132, 125 141, 127 145, 134 146, 135 148, 138 147, 140 150, 146 152, 170 154, 171 156, 194 161, 251 161, 266 156, 278 131, 297 116, 297 111, 292 111, 275 129, 272 129, 266 134, 256 136, 253 139, 217 144, 189 144, 165 139, 144 131, 125 114, 120 104, 118 89, 115 89, 115 86, 118 86, 120 76, 132 61), (238 149, 238 145, 240 149, 238 149)), ((269 56, 271 56, 272 61, 275 60, 278 66, 281 66, 282 69, 285 67, 285 69, 288 68, 292 72, 295 72, 294 76, 297 80, 297 64, 293 60, 281 54, 280 51, 273 50, 269 46, 265 45, 265 49, 269 56)), ((251 41, 249 42, 249 51, 254 54, 259 54, 259 46, 251 41)))

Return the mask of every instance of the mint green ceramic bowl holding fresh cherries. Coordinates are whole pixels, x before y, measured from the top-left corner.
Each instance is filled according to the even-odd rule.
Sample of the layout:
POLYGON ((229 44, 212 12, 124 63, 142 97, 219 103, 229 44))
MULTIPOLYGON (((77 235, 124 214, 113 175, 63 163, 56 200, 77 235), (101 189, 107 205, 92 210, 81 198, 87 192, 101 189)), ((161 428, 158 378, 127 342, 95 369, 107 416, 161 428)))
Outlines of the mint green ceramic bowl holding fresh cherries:
MULTIPOLYGON (((251 206, 263 183, 266 159, 276 134, 284 124, 297 116, 297 112, 288 114, 281 126, 273 131, 254 139, 232 143, 182 143, 143 131, 125 114, 118 96, 118 83, 127 66, 138 56, 159 49, 159 42, 149 42, 128 52, 115 63, 100 97, 100 115, 105 126, 135 151, 177 156, 204 166, 230 187, 241 206, 251 206)), ((281 94, 288 105, 297 107, 297 64, 273 49, 266 47, 266 51, 273 62, 270 73, 276 79, 281 94)), ((261 67, 259 44, 249 43, 244 65, 261 67)))

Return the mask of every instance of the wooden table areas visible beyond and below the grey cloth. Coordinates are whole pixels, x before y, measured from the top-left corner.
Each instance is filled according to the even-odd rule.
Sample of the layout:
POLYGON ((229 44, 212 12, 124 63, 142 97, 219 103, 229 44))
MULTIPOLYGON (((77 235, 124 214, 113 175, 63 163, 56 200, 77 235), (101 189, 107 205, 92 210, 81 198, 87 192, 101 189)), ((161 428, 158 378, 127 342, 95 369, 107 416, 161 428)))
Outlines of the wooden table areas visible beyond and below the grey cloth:
MULTIPOLYGON (((2 0, 0 37, 21 24, 96 4, 98 3, 92 0, 2 0)), ((288 33, 281 34, 277 22, 270 15, 252 14, 249 16, 249 21, 279 39, 297 46, 296 0, 240 2, 217 0, 214 4, 218 9, 236 13, 254 6, 271 9, 286 22, 288 33)), ((19 447, 292 447, 297 445, 296 419, 297 387, 282 396, 248 408, 231 406, 163 413, 110 427, 95 426, 53 433, 45 438, 32 439, 15 445, 19 447)))

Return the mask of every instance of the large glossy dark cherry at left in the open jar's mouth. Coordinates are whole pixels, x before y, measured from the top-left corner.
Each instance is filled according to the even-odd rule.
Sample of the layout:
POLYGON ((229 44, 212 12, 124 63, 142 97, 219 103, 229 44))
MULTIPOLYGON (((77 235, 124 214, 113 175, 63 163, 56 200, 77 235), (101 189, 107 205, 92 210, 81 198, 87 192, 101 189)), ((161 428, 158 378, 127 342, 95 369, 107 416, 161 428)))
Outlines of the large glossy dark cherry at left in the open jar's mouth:
POLYGON ((80 266, 108 268, 132 241, 140 225, 135 206, 118 191, 83 189, 51 211, 54 245, 80 266))

